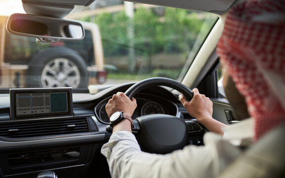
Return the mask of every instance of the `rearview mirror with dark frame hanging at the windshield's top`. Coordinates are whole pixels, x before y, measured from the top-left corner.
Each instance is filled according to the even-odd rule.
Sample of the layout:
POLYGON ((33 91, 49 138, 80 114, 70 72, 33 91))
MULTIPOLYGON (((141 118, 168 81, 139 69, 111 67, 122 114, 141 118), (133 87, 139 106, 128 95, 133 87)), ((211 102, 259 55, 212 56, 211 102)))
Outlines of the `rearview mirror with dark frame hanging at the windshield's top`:
POLYGON ((82 40, 85 36, 80 22, 53 17, 15 13, 10 15, 6 29, 14 35, 34 37, 39 43, 59 40, 82 40))

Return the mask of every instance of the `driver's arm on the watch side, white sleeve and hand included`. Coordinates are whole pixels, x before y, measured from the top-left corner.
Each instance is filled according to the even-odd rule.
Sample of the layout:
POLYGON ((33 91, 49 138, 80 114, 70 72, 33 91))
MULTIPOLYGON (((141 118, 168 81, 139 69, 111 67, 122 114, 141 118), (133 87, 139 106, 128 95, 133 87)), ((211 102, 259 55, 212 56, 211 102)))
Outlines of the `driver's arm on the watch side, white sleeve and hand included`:
MULTIPOLYGON (((109 100, 106 111, 109 117, 116 111, 124 111, 131 116, 136 107, 134 98, 131 100, 118 92, 109 100)), ((141 151, 135 135, 131 133, 130 122, 124 119, 114 125, 113 134, 102 146, 101 153, 107 158, 113 178, 215 177, 237 154, 233 152, 235 148, 220 136, 208 134, 204 138, 206 146, 190 145, 166 155, 150 154, 141 151), (219 154, 227 153, 223 149, 228 148, 231 154, 222 160, 227 164, 215 164, 223 159, 219 154)))

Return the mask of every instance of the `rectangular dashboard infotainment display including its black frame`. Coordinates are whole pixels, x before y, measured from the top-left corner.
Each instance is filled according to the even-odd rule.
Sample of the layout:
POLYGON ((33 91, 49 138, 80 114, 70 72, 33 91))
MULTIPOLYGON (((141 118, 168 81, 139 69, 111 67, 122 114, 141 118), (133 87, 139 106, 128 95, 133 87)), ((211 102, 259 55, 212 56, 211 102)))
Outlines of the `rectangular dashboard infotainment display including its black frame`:
POLYGON ((73 116, 72 88, 10 89, 11 121, 73 116))

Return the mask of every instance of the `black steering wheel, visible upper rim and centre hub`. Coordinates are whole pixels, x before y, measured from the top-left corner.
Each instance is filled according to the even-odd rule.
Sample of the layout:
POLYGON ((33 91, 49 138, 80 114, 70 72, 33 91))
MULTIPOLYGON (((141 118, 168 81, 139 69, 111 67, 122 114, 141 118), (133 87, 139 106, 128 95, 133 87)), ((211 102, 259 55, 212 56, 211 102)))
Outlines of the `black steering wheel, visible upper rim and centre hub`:
MULTIPOLYGON (((167 78, 149 78, 130 87, 125 94, 132 98, 142 89, 165 86, 176 89, 191 100, 193 92, 185 85, 167 78)), ((166 114, 144 115, 133 120, 141 147, 151 153, 165 154, 181 149, 187 142, 187 125, 181 118, 166 114)), ((134 131, 133 130, 133 131, 134 131)))

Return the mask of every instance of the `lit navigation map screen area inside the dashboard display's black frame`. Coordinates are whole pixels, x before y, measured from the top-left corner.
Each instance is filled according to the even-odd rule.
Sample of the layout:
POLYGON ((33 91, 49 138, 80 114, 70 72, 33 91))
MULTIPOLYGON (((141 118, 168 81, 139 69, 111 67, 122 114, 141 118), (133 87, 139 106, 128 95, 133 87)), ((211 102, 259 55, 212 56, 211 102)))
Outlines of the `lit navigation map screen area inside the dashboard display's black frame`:
POLYGON ((67 92, 16 93, 16 116, 68 112, 67 92))

